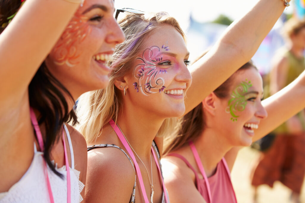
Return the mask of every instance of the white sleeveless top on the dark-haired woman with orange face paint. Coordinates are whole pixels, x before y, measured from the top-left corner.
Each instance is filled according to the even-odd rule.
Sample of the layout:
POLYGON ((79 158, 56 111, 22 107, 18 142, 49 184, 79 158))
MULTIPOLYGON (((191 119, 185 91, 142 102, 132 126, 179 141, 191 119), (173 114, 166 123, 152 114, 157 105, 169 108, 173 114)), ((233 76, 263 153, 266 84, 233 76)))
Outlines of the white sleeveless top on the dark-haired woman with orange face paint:
MULTIPOLYGON (((71 202, 79 203, 83 200, 81 191, 84 189, 84 184, 79 180, 80 172, 74 169, 74 153, 71 143, 69 131, 64 125, 66 131, 70 154, 71 154, 71 167, 70 167, 70 181, 71 181, 71 202)), ((57 176, 48 166, 47 173, 52 189, 54 202, 67 202, 67 172, 66 166, 56 170, 63 174, 63 179, 57 176)), ((0 193, 0 203, 41 203, 50 202, 48 187, 45 184, 44 173, 44 158, 43 152, 38 152, 36 144, 34 143, 34 157, 32 163, 26 173, 21 179, 15 183, 8 192, 0 193)))

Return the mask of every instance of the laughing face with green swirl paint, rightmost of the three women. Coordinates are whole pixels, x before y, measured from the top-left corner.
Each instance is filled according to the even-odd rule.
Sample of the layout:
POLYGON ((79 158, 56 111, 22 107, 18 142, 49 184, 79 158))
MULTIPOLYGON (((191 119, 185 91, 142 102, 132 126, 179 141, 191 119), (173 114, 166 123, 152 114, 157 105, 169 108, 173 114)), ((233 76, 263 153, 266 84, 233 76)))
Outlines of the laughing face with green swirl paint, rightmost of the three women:
POLYGON ((227 98, 221 99, 217 109, 217 125, 231 146, 249 146, 255 129, 267 112, 261 104, 263 81, 255 68, 240 70, 234 79, 227 98))

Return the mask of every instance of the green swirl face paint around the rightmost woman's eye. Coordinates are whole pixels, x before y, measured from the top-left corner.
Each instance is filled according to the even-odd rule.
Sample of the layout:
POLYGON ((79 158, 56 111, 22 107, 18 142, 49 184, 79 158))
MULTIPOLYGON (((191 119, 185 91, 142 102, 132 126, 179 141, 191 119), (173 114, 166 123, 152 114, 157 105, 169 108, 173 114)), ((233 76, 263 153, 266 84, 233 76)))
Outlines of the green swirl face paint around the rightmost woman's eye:
POLYGON ((239 116, 236 115, 236 112, 243 111, 246 108, 247 100, 245 94, 248 92, 248 89, 252 86, 251 81, 243 81, 231 94, 231 99, 228 101, 228 107, 226 112, 231 114, 231 121, 237 121, 239 116))

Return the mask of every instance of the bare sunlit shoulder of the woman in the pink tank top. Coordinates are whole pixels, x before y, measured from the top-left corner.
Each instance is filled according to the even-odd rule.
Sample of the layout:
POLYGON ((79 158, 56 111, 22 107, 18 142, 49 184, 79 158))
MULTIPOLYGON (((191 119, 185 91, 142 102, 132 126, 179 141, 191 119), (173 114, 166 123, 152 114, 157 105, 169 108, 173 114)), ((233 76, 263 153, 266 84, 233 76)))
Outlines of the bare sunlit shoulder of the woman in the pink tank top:
POLYGON ((193 171, 179 158, 165 156, 161 159, 164 182, 170 201, 205 203, 195 185, 193 171))

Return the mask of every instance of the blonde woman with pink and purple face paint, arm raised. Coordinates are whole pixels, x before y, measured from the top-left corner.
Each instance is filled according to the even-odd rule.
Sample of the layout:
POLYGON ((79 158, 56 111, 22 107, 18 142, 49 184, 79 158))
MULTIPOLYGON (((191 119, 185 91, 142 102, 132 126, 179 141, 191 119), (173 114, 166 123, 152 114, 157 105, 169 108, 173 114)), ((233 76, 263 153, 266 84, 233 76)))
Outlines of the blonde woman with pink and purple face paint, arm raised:
POLYGON ((78 103, 79 129, 91 145, 86 201, 168 202, 154 138, 170 133, 173 117, 191 110, 249 61, 284 8, 280 0, 261 0, 232 24, 192 67, 186 106, 191 75, 180 26, 166 13, 127 14, 119 22, 126 41, 116 47, 109 86, 78 103))

